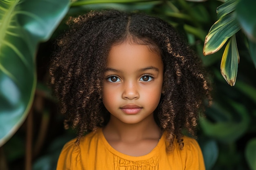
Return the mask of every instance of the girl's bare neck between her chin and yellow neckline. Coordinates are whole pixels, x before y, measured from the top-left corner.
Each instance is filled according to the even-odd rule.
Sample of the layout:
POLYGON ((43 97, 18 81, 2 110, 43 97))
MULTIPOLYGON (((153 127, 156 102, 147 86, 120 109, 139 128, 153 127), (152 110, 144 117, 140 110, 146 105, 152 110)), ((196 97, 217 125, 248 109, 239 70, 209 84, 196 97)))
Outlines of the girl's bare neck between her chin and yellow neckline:
POLYGON ((153 114, 137 124, 126 124, 114 116, 103 128, 107 140, 133 142, 143 139, 159 139, 161 130, 157 126, 153 114))

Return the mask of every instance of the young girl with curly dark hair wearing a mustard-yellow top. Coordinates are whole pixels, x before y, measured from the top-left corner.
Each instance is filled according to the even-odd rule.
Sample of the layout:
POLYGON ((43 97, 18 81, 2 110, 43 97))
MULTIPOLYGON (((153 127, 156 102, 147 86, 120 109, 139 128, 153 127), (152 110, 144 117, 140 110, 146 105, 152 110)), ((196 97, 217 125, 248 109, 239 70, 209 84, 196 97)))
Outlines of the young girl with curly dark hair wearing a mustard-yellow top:
POLYGON ((198 143, 182 132, 195 135, 209 83, 173 27, 119 11, 91 11, 70 25, 50 76, 78 134, 57 170, 204 170, 198 143))

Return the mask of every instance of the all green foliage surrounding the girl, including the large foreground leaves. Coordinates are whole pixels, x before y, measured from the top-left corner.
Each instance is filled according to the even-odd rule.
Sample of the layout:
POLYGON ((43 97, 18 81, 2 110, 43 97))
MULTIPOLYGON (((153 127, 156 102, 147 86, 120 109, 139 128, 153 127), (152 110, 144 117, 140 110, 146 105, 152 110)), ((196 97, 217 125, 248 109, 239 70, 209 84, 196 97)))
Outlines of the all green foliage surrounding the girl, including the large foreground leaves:
POLYGON ((63 128, 48 67, 67 18, 98 9, 144 12, 177 29, 213 82, 197 134, 206 169, 256 170, 255 7, 255 0, 0 0, 0 170, 54 170, 76 136, 63 128))

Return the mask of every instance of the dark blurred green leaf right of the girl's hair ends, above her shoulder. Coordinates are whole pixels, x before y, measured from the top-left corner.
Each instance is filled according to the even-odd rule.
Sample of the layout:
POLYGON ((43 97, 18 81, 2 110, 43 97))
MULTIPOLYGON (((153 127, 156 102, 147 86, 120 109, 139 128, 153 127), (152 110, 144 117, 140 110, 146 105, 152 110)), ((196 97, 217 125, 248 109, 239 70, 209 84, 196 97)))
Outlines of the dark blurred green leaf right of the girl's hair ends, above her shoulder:
POLYGON ((242 104, 227 101, 236 112, 231 113, 228 106, 217 103, 207 110, 207 117, 200 117, 200 127, 204 134, 225 143, 232 143, 241 137, 249 126, 249 113, 242 104))

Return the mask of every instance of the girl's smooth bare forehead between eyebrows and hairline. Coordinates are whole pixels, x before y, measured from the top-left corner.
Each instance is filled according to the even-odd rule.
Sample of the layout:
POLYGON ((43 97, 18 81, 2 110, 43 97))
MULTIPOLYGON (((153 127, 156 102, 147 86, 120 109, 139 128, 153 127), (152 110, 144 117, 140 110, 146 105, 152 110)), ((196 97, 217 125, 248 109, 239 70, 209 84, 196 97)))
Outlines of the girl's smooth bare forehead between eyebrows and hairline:
POLYGON ((148 45, 123 42, 113 45, 110 49, 107 67, 118 70, 136 71, 136 69, 154 66, 162 69, 162 58, 157 52, 149 49, 148 45))

